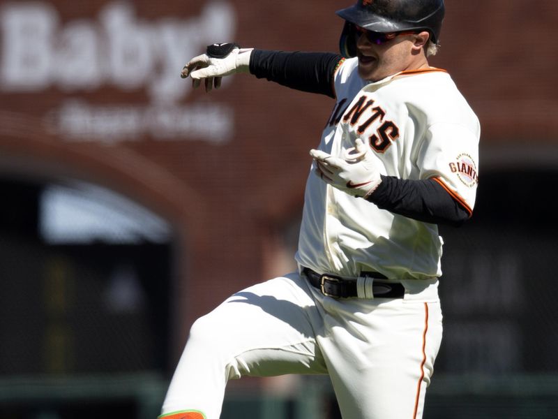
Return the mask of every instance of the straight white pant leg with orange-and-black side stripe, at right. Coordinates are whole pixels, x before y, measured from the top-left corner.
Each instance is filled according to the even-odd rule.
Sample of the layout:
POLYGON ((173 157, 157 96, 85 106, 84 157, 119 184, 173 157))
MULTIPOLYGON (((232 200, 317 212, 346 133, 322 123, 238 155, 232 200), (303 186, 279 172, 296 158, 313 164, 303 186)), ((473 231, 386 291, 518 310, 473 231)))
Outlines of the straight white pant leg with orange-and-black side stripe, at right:
POLYGON ((324 312, 318 342, 342 417, 422 418, 442 339, 439 302, 325 300, 324 312))

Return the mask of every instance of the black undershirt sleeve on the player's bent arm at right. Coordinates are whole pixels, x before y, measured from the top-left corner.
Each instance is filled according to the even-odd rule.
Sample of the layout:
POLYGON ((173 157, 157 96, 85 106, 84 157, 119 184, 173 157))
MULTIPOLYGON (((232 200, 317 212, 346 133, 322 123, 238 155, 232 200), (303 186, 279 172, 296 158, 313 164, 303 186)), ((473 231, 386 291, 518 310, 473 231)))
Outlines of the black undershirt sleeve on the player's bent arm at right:
POLYGON ((455 227, 471 215, 434 179, 398 179, 382 175, 382 183, 368 201, 382 210, 418 221, 455 227))

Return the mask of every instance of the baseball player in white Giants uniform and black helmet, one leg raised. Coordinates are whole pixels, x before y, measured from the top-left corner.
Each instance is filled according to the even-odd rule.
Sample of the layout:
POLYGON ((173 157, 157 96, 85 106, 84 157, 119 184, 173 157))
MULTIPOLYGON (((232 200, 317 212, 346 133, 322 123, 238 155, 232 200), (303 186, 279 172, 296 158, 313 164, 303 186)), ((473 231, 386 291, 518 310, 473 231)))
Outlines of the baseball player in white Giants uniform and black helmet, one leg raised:
POLYGON ((299 269, 195 321, 161 418, 217 419, 229 379, 280 374, 329 374, 345 419, 422 417, 442 339, 437 226, 472 215, 480 128, 428 64, 443 0, 337 14, 341 55, 215 44, 183 68, 207 91, 243 72, 335 105, 310 150, 299 269))

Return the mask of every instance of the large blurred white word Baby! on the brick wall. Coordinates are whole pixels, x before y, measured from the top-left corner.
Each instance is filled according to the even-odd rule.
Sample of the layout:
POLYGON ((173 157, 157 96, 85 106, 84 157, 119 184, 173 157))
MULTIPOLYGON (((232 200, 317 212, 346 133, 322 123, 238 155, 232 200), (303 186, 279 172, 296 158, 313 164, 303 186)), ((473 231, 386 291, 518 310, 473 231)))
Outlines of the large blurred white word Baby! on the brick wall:
POLYGON ((98 21, 79 20, 59 27, 47 3, 8 3, 0 9, 3 91, 63 91, 112 85, 142 89, 157 102, 176 103, 188 83, 179 73, 186 59, 206 45, 232 41, 234 8, 208 1, 199 17, 147 22, 130 3, 109 3, 98 21))

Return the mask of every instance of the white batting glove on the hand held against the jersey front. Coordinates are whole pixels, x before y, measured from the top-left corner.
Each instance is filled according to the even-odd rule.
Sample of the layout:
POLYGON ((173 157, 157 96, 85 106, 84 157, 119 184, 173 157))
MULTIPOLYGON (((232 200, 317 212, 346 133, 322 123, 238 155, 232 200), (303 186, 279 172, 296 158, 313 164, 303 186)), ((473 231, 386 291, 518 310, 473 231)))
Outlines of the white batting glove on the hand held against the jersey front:
POLYGON ((349 195, 368 198, 382 183, 370 149, 360 138, 345 152, 344 159, 315 149, 310 150, 310 156, 316 162, 316 174, 349 195))

